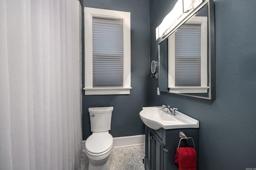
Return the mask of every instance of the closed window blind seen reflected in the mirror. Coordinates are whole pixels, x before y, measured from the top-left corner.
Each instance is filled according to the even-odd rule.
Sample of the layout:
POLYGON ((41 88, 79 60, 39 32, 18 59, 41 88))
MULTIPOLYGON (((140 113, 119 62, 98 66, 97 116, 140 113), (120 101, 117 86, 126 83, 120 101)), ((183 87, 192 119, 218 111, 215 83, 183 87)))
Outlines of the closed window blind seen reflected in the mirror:
POLYGON ((200 24, 184 24, 175 32, 175 86, 201 86, 200 24))

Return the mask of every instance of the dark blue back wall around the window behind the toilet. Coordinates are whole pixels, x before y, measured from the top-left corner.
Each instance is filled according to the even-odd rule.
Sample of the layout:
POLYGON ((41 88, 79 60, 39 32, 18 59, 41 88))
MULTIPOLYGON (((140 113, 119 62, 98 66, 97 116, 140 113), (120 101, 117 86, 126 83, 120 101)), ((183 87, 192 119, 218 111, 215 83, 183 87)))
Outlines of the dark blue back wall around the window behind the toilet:
MULTIPOLYGON (((149 0, 84 0, 84 7, 131 13, 131 86, 130 95, 85 96, 83 90, 83 139, 91 134, 89 107, 113 106, 110 134, 113 137, 144 134, 139 117, 143 106, 150 104, 150 2, 149 0)), ((82 23, 84 14, 82 8, 82 23)), ((84 59, 84 24, 82 55, 84 59)), ((82 61, 84 63, 84 60, 82 61)), ((84 64, 83 64, 84 86, 84 64)))

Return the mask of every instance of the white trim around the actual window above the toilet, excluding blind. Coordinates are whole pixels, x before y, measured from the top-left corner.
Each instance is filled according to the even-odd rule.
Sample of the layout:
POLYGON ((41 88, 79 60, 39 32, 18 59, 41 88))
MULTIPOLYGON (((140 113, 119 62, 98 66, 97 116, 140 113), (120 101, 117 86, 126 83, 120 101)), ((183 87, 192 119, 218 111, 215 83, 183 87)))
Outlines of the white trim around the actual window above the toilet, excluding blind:
POLYGON ((84 86, 85 95, 130 94, 132 89, 130 12, 84 7, 84 86), (93 88, 92 86, 92 17, 122 18, 124 21, 124 87, 93 88))

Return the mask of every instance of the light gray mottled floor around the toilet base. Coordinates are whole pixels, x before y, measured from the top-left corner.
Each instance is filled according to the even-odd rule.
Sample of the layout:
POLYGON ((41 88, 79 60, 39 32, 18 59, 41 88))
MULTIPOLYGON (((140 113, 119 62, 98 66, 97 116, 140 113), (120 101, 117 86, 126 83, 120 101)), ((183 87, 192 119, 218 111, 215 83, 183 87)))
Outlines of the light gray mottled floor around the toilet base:
MULTIPOLYGON (((88 170, 88 158, 84 153, 80 170, 88 170)), ((110 154, 110 170, 144 170, 144 145, 113 149, 110 154)))

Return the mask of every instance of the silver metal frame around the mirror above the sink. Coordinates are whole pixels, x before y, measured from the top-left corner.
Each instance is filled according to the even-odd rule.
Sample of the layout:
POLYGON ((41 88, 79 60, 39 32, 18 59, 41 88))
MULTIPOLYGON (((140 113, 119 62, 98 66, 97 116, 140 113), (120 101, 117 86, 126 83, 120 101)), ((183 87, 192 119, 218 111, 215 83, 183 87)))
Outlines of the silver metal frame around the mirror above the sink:
MULTIPOLYGON (((216 98, 216 90, 215 90, 215 31, 214 31, 214 1, 213 0, 206 0, 200 6, 198 6, 194 12, 192 12, 190 15, 188 15, 184 20, 182 20, 172 31, 170 31, 166 36, 160 39, 160 43, 164 41, 166 38, 169 37, 176 29, 178 29, 183 23, 185 23, 187 20, 189 20, 196 12, 198 12, 201 8, 203 8, 205 5, 208 4, 208 28, 209 28, 209 92, 208 97, 203 96, 196 96, 196 95, 190 95, 190 94, 178 94, 182 96, 190 96, 194 98, 202 98, 207 100, 215 100, 216 98)), ((158 44, 158 63, 160 63, 160 43, 158 44)), ((160 70, 158 71, 158 74, 161 74, 160 70)), ((159 76, 160 77, 160 76, 159 76)), ((158 84, 158 87, 160 87, 160 81, 158 84)), ((176 93, 175 93, 176 94, 176 93)))

